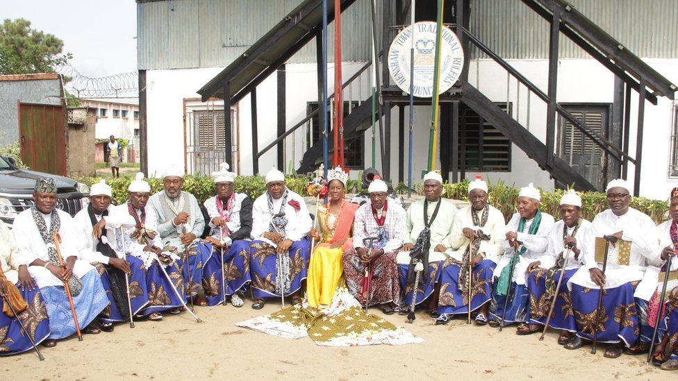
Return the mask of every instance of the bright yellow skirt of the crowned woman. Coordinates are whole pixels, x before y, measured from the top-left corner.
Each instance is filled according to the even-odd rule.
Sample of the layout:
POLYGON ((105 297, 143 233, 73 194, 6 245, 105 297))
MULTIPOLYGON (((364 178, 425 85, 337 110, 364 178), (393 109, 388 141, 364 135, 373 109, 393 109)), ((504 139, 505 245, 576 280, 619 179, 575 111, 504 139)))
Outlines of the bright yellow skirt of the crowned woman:
POLYGON ((343 272, 342 249, 318 246, 308 262, 306 299, 313 308, 329 306, 343 272))

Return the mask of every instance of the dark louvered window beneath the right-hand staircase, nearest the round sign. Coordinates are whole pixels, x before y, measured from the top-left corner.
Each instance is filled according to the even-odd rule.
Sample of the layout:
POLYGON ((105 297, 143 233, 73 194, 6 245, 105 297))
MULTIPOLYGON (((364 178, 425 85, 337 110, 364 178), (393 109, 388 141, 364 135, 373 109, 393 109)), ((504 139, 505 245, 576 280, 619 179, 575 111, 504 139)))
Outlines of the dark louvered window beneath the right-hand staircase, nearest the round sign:
MULTIPOLYGON (((511 103, 495 103, 511 112, 511 103)), ((459 160, 464 160, 467 171, 509 172, 511 171, 511 141, 493 124, 480 117, 471 108, 461 105, 459 110, 460 128, 459 160), (465 151, 463 151, 465 147, 465 151), (461 155, 464 155, 462 158, 461 155)))

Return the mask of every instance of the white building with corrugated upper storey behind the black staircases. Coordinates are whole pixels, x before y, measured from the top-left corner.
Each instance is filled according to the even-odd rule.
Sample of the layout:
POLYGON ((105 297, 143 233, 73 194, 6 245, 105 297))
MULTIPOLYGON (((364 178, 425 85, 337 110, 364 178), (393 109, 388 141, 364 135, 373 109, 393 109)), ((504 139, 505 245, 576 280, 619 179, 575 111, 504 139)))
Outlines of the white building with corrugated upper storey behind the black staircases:
MULTIPOLYGON (((142 150, 142 168, 147 169, 151 176, 168 165, 182 164, 189 172, 209 173, 224 158, 224 103, 221 99, 201 102, 197 91, 217 77, 295 7, 313 1, 137 2, 138 66, 140 87, 143 87, 140 92, 141 135, 142 144, 144 133, 147 142, 145 158, 142 150)), ((370 61, 372 22, 369 1, 343 2, 352 3, 342 13, 342 71, 344 81, 347 81, 365 67, 365 62, 370 61)), ((620 46, 620 50, 636 53, 659 76, 665 77, 671 83, 678 83, 678 29, 674 27, 678 22, 678 7, 675 7, 675 2, 570 2, 579 12, 622 43, 623 49, 620 46)), ((398 12, 394 9, 396 3, 407 2, 390 1, 392 25, 397 24, 395 18, 398 12)), ((427 11, 430 13, 431 8, 435 8, 433 3, 435 1, 417 1, 417 15, 427 11), (420 7, 424 7, 423 10, 420 7)), ((457 1, 446 2, 452 4, 450 7, 455 3, 457 1)), ((459 3, 464 1, 460 0, 459 3)), ((524 78, 546 94, 549 87, 549 23, 528 8, 526 3, 529 1, 473 0, 470 2, 468 29, 497 53, 497 56, 504 58, 524 78)), ((381 46, 381 15, 384 4, 386 3, 377 1, 378 46, 381 46)), ((447 9, 446 12, 452 15, 451 10, 447 9)), ((419 19, 417 17, 417 21, 419 19)), ((295 22, 295 17, 288 18, 287 22, 295 22)), ((409 19, 406 17, 402 24, 408 23, 409 19)), ((313 25, 308 26, 312 27, 313 25)), ((329 30, 333 30, 333 24, 330 24, 329 30)), ((392 31, 390 38, 395 37, 396 33, 397 30, 392 31)), ((600 133, 612 145, 634 159, 638 93, 636 90, 630 92, 631 107, 625 110, 623 81, 615 79, 615 74, 599 60, 570 42, 562 29, 559 39, 561 44, 556 101, 574 117, 584 120, 588 128, 600 133), (626 131, 625 125, 628 126, 626 131), (624 147, 625 139, 628 139, 627 149, 624 147)), ((329 94, 332 94, 333 33, 329 33, 328 40, 328 83, 329 94)), ((545 144, 547 103, 534 91, 529 91, 526 85, 518 85, 515 76, 509 76, 506 69, 495 60, 488 58, 473 44, 470 46, 470 51, 466 52, 468 84, 500 107, 506 108, 508 104, 511 117, 545 144)), ((317 108, 316 57, 314 41, 310 40, 285 62, 283 71, 272 71, 270 76, 256 86, 256 149, 253 149, 252 144, 253 120, 249 92, 240 96, 238 102, 231 107, 233 167, 239 173, 251 174, 252 158, 256 155, 254 151, 263 149, 281 135, 279 115, 284 117, 282 128, 289 130, 317 108), (276 108, 279 83, 284 83, 284 92, 281 92, 285 103, 283 112, 276 108)), ((378 72, 381 76, 381 67, 378 72)), ((371 83, 372 69, 368 67, 345 88, 345 102, 349 102, 352 108, 361 105, 371 95, 371 83)), ((390 85, 394 86, 392 82, 390 85)), ((678 185, 677 103, 672 100, 672 94, 668 96, 654 90, 656 89, 648 85, 649 97, 656 98, 657 104, 645 102, 640 195, 664 199, 668 191, 678 185)), ((675 87, 673 90, 675 91, 675 87)), ((450 95, 450 99, 453 95, 450 95)), ((424 99, 420 101, 422 104, 415 107, 414 115, 412 173, 415 179, 420 178, 421 171, 427 167, 431 118, 430 105, 425 105, 424 99)), ((556 186, 550 173, 540 169, 539 164, 521 149, 524 142, 508 139, 499 128, 479 119, 477 112, 465 104, 458 107, 461 115, 459 118, 465 116, 465 128, 454 131, 454 135, 451 132, 452 122, 441 124, 441 135, 445 135, 445 130, 449 139, 444 137, 442 144, 438 142, 436 167, 440 168, 443 164, 449 169, 445 175, 449 175, 450 180, 454 176, 471 178, 476 173, 482 173, 490 182, 503 180, 508 185, 516 186, 534 182, 544 189, 556 186), (459 146, 451 146, 453 141, 458 141, 459 146), (449 167, 449 158, 452 156, 460 159, 456 168, 449 167), (441 157, 443 160, 440 160, 441 157)), ((452 114, 445 113, 452 112, 452 106, 444 109, 443 121, 450 121, 452 114)), ((390 149, 390 171, 386 175, 394 182, 406 180, 408 173, 408 112, 407 105, 399 103, 390 110, 390 127, 386 123, 384 127, 385 134, 390 135, 389 143, 383 147, 387 153, 390 149), (404 137, 400 136, 401 117, 404 117, 404 137)), ((555 124, 554 153, 581 176, 600 189, 604 181, 623 175, 622 163, 612 160, 600 146, 572 128, 563 117, 556 117, 555 124)), ((284 168, 286 172, 297 169, 304 153, 311 146, 313 137, 318 136, 317 131, 315 119, 306 122, 283 140, 282 162, 279 162, 279 154, 274 146, 259 158, 259 170, 265 172, 274 165, 284 168)), ((375 165, 381 170, 382 147, 379 139, 377 133, 375 165)), ((350 155, 347 153, 347 157, 351 157, 352 168, 364 169, 372 166, 371 142, 370 128, 352 141, 350 155)), ((534 152, 530 155, 534 156, 534 152)), ((634 180, 634 170, 634 164, 629 163, 626 168, 629 180, 634 180)))

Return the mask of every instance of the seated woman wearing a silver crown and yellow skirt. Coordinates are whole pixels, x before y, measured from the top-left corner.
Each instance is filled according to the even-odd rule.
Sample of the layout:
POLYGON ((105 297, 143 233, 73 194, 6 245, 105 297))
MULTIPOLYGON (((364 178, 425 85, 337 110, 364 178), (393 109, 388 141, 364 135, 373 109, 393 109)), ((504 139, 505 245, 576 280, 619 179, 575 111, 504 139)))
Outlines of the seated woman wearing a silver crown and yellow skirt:
POLYGON ((320 230, 313 228, 311 237, 318 244, 308 264, 306 298, 313 308, 327 307, 332 302, 342 276, 342 253, 353 247, 353 220, 358 205, 344 200, 348 174, 336 167, 327 173, 326 206, 319 206, 320 230))

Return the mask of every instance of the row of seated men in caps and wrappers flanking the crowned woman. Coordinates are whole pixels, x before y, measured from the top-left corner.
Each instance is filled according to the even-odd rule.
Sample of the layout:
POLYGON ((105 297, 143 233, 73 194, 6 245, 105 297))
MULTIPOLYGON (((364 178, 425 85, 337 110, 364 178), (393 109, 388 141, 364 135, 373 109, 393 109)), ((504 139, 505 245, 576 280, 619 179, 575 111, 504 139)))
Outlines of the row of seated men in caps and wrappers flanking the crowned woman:
MULTIPOLYGON (((0 354, 32 348, 22 329, 51 347, 80 328, 97 334, 131 316, 158 321, 188 302, 240 307, 245 291, 254 309, 281 296, 301 305, 314 222, 283 173, 269 171, 267 191, 252 202, 234 192, 236 175, 222 164, 213 173, 215 196, 204 202, 207 235, 197 199, 182 190, 183 174, 167 171, 164 190, 151 196, 138 173, 128 201, 117 206, 101 180, 74 218, 56 208, 53 180, 37 180, 35 205, 19 213, 12 230, 0 223, 0 354)), ((540 210, 540 191, 530 184, 505 223, 481 178, 470 182, 470 205, 461 210, 443 200, 440 174, 423 180, 424 198, 406 211, 388 198, 386 183, 374 180, 370 201, 355 212, 353 244, 342 263, 347 289, 363 305, 379 305, 385 314, 407 314, 416 305, 440 325, 454 316, 491 327, 516 323, 518 335, 540 332, 548 319, 559 344, 577 349, 595 338, 608 344, 605 357, 647 353, 661 314, 653 359, 678 369, 678 287, 658 305, 670 257, 671 269, 678 268, 678 189, 671 218, 659 227, 629 207, 625 180, 608 185, 609 209, 593 222, 580 216, 573 191, 563 195, 555 221, 540 210), (613 241, 605 264, 595 256, 595 237, 613 241), (379 269, 368 294, 361 282, 366 266, 379 269)))

